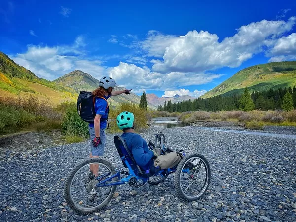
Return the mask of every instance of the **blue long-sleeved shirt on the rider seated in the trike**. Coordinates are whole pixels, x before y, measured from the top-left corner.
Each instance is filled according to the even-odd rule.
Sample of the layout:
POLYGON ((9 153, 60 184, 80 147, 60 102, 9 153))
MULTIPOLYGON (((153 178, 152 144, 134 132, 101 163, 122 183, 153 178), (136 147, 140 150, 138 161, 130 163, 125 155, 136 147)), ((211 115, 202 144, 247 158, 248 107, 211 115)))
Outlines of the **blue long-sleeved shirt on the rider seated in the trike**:
POLYGON ((152 164, 154 164, 152 159, 154 153, 148 148, 147 142, 136 133, 123 133, 121 136, 142 170, 151 169, 152 164))

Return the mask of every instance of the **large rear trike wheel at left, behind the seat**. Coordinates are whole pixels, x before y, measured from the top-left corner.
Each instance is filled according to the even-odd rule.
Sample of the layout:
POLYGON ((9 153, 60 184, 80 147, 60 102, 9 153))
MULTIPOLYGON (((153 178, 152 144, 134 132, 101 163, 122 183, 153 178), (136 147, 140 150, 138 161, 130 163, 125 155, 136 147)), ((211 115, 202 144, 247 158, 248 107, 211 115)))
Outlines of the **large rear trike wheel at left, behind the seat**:
MULTIPOLYGON (((106 206, 116 191, 116 185, 96 185, 115 174, 114 167, 106 160, 93 158, 79 164, 70 173, 64 187, 69 207, 81 214, 91 214, 106 206), (90 169, 95 169, 90 174, 90 169)), ((116 178, 109 183, 115 182, 116 178)))

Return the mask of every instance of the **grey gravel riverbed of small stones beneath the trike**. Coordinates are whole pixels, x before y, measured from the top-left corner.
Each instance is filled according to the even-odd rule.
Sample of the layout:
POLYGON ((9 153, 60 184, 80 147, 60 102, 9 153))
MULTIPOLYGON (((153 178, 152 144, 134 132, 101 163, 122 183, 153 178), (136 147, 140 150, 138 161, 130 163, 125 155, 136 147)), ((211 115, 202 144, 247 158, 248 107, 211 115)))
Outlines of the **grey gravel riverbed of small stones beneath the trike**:
MULTIPOLYGON (((153 141, 159 131, 171 148, 208 159, 211 182, 199 201, 178 199, 170 175, 160 185, 117 186, 119 195, 104 209, 79 215, 65 203, 63 187, 69 171, 88 158, 89 141, 23 151, 2 147, 0 221, 296 221, 296 139, 200 127, 150 128, 141 135, 153 141)), ((122 169, 113 136, 107 135, 104 158, 122 169)))

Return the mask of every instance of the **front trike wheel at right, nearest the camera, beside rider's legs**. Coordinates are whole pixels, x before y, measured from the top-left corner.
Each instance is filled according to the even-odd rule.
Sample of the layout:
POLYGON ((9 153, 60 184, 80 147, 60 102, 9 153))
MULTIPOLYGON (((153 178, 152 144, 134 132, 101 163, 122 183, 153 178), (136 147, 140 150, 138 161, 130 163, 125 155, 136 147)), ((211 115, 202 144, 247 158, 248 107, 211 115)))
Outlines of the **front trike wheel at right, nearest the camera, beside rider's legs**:
POLYGON ((193 153, 185 156, 175 174, 177 194, 186 201, 197 200, 206 192, 210 179, 210 165, 203 155, 193 153))

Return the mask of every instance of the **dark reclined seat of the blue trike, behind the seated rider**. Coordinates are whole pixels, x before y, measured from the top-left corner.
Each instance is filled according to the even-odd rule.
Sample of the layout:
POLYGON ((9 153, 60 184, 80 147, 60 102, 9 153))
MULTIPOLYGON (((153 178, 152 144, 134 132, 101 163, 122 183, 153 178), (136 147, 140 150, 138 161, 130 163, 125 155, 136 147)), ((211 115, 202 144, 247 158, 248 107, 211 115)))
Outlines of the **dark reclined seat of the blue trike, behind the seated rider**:
POLYGON ((126 142, 124 141, 124 139, 121 136, 114 136, 114 144, 115 144, 115 147, 116 147, 118 154, 121 158, 123 166, 125 168, 129 168, 125 162, 125 160, 127 160, 131 169, 133 170, 133 172, 137 176, 150 177, 150 176, 154 175, 158 170, 160 170, 155 167, 153 167, 152 169, 149 169, 149 170, 142 170, 140 168, 140 166, 136 163, 132 153, 130 152, 130 150, 128 149, 128 147, 126 145, 126 142))

